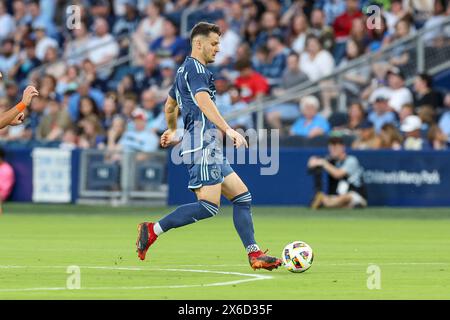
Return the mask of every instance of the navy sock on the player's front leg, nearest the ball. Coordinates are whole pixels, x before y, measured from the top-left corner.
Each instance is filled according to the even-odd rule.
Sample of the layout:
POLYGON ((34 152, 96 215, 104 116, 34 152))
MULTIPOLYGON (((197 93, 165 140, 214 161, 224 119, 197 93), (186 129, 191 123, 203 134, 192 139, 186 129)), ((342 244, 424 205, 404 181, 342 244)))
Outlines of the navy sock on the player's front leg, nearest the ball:
POLYGON ((236 231, 244 244, 247 253, 259 251, 255 240, 255 231, 252 221, 252 195, 244 192, 231 199, 233 203, 233 222, 236 231))

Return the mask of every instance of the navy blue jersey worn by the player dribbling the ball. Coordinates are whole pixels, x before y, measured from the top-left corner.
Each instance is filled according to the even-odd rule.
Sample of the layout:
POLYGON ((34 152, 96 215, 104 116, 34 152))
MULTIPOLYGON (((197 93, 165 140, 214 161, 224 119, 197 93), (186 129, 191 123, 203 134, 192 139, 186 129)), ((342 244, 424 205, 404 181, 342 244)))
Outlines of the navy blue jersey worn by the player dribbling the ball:
POLYGON ((215 102, 216 87, 212 72, 197 59, 186 57, 169 92, 177 101, 183 117, 185 133, 181 155, 201 150, 215 142, 215 135, 209 134, 212 131, 208 130, 216 129, 216 126, 206 118, 195 100, 195 95, 200 91, 208 92, 215 102))

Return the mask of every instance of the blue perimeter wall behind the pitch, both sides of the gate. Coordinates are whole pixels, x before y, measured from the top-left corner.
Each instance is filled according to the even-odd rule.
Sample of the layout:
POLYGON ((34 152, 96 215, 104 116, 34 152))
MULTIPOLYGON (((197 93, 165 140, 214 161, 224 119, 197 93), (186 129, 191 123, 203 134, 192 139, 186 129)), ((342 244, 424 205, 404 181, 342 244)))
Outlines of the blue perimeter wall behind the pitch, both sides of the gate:
MULTIPOLYGON (((36 150, 36 149, 35 149, 36 150)), ((53 149, 55 150, 55 149, 53 149)), ((13 166, 16 184, 10 201, 31 202, 39 198, 36 180, 45 179, 42 174, 56 174, 62 179, 49 179, 44 185, 44 197, 54 195, 57 202, 73 202, 78 199, 80 177, 80 150, 71 151, 69 161, 62 165, 48 164, 48 173, 36 175, 33 149, 6 150, 6 160, 13 166), (57 168, 56 168, 57 167, 57 168), (50 169, 51 168, 51 169, 50 169), (56 169, 55 169, 56 168, 56 169), (59 171, 58 171, 59 170, 59 171), (67 172, 67 179, 64 178, 67 172), (70 177, 70 178, 69 178, 70 177), (66 181, 68 180, 68 182, 66 181), (65 181, 58 188, 55 184, 65 181), (35 186, 33 186, 35 185, 35 186), (62 190, 65 189, 65 190, 62 190), (61 194, 69 193, 67 201, 61 194)), ((281 149, 279 170, 275 175, 261 175, 261 164, 233 165, 253 194, 256 205, 308 205, 313 196, 312 178, 306 170, 310 156, 323 156, 325 149, 281 149)), ((365 180, 369 194, 369 204, 373 206, 449 206, 450 205, 450 151, 352 151, 365 168, 365 180)), ((248 159, 248 158, 247 158, 248 159)), ((54 161, 47 159, 44 161, 54 161)), ((42 168, 39 169, 42 171, 42 168)), ((42 181, 41 181, 42 182, 42 181)), ((187 187, 188 175, 183 165, 168 163, 168 204, 178 205, 194 201, 195 197, 187 187)), ((42 201, 41 202, 45 202, 42 201)), ((228 204, 224 199, 223 205, 228 204)))

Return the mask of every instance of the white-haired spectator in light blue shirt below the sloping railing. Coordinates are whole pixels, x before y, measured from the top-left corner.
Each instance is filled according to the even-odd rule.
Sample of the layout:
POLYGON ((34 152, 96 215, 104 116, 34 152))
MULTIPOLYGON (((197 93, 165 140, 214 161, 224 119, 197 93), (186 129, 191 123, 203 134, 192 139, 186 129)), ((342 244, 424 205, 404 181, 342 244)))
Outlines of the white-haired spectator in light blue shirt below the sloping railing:
POLYGON ((291 135, 314 138, 330 132, 328 121, 318 114, 319 99, 315 96, 303 97, 300 101, 300 118, 291 127, 291 135))

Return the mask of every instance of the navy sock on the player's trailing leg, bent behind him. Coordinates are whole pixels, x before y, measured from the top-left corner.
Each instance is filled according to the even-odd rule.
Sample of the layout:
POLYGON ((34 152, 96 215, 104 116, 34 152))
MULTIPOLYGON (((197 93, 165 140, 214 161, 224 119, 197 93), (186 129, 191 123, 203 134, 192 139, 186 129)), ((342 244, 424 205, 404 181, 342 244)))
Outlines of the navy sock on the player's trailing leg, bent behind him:
POLYGON ((172 213, 162 218, 159 225, 166 232, 173 228, 182 227, 198 220, 214 217, 219 207, 212 202, 199 200, 176 208, 172 213))

